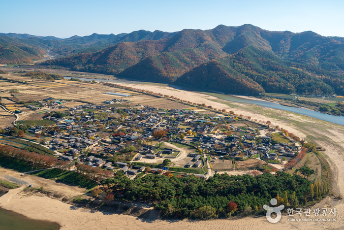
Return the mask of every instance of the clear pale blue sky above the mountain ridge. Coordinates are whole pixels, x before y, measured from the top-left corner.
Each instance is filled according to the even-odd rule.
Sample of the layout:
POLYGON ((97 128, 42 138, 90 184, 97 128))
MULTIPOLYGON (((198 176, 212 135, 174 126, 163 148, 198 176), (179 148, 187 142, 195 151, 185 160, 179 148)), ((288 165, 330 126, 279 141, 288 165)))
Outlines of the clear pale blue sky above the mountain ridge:
POLYGON ((11 0, 0 5, 0 33, 66 38, 252 24, 344 37, 343 0, 11 0))

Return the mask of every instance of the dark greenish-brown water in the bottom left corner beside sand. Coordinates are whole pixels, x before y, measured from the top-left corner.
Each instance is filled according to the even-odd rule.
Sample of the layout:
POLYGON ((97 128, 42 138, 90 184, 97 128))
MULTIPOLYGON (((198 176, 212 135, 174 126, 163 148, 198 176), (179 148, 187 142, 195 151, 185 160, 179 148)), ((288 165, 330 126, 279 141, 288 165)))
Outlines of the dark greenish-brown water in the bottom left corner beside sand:
POLYGON ((59 230, 60 227, 57 223, 32 220, 16 212, 0 208, 0 230, 59 230))

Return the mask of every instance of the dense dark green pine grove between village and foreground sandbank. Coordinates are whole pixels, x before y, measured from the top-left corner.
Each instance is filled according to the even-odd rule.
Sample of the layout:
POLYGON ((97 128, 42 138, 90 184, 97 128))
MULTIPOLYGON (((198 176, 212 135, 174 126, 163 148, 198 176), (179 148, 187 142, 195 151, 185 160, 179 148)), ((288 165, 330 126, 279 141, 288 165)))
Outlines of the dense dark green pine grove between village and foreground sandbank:
POLYGON ((263 173, 255 177, 215 174, 208 180, 193 175, 177 177, 165 174, 149 174, 136 180, 116 176, 104 180, 103 186, 118 199, 154 202, 155 208, 162 210, 164 216, 181 218, 201 218, 202 212, 208 209, 213 210, 214 215, 205 218, 258 211, 271 198, 278 196, 284 196, 286 204, 299 207, 307 205, 311 197, 311 181, 284 172, 275 175, 263 173), (235 210, 229 208, 231 201, 237 205, 235 210))

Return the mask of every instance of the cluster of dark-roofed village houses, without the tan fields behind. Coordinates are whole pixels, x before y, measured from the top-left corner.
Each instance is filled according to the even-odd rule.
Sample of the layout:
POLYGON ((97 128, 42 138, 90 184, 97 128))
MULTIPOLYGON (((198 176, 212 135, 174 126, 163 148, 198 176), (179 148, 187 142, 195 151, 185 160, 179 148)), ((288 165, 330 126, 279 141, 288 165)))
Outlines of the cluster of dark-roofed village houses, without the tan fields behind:
POLYGON ((163 170, 207 178, 212 164, 219 170, 235 170, 235 162, 249 159, 282 164, 299 150, 295 142, 276 142, 271 134, 261 134, 274 134, 275 129, 259 124, 248 127, 245 119, 235 115, 208 116, 190 109, 166 110, 140 104, 123 107, 129 102, 113 101, 111 104, 118 107, 83 104, 66 108, 64 100, 37 101, 39 106, 50 108, 43 119, 53 124, 25 127, 24 132, 49 137, 42 139, 42 144, 62 161, 122 171, 132 179, 140 172, 163 170), (231 166, 217 167, 226 162, 231 166))

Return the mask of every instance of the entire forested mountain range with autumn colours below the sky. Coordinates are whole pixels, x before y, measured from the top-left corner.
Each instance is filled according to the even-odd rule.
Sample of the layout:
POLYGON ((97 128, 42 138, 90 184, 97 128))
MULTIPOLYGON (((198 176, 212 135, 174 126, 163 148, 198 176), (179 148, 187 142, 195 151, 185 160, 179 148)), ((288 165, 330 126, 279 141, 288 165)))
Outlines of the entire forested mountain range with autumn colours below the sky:
POLYGON ((344 95, 344 38, 252 25, 66 39, 0 33, 0 64, 30 63, 223 93, 344 95))

